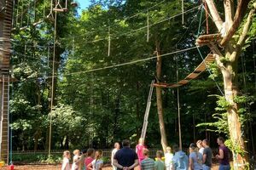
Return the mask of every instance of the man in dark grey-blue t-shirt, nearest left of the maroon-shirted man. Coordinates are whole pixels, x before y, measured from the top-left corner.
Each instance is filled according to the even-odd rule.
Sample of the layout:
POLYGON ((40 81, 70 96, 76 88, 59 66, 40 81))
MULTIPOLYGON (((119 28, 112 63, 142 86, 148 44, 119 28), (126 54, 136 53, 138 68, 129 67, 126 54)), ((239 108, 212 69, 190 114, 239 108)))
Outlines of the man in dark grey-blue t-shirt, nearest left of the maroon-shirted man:
POLYGON ((209 141, 204 139, 202 141, 202 145, 204 147, 203 152, 203 170, 210 170, 212 167, 212 149, 209 147, 209 141))

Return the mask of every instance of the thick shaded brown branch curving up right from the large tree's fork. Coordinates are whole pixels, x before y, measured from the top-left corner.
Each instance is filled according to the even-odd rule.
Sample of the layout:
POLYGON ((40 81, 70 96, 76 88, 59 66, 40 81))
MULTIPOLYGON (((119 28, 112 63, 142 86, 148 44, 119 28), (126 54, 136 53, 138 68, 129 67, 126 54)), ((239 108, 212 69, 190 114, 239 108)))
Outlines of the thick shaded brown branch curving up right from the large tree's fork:
POLYGON ((240 0, 237 7, 236 7, 236 15, 234 17, 234 22, 232 26, 230 26, 230 30, 228 31, 227 35, 223 38, 223 40, 220 42, 221 46, 225 46, 227 42, 230 41, 231 37, 235 34, 237 28, 241 24, 241 20, 247 10, 247 6, 250 0, 240 0))

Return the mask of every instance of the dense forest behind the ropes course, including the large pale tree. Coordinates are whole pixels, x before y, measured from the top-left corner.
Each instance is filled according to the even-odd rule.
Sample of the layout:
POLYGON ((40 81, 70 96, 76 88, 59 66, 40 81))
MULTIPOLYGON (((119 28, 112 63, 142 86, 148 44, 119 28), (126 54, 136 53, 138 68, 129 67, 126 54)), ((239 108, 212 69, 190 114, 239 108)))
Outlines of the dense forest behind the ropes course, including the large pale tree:
POLYGON ((15 3, 12 150, 134 146, 154 81, 148 148, 198 139, 217 148, 223 136, 233 153, 255 156, 255 2, 91 0, 81 13, 69 1, 54 10, 65 6, 56 2, 15 3), (212 48, 200 44, 219 32, 212 48), (207 54, 215 61, 206 71, 177 83, 207 54))

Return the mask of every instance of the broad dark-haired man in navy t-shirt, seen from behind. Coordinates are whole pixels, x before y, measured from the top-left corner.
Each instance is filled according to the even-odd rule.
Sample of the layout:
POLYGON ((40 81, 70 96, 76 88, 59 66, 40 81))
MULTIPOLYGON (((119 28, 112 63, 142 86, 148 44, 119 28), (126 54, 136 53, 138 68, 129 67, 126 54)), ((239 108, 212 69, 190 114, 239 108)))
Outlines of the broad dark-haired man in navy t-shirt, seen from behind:
POLYGON ((125 139, 122 144, 124 147, 113 157, 113 165, 118 170, 133 170, 138 165, 137 153, 131 150, 129 140, 125 139))

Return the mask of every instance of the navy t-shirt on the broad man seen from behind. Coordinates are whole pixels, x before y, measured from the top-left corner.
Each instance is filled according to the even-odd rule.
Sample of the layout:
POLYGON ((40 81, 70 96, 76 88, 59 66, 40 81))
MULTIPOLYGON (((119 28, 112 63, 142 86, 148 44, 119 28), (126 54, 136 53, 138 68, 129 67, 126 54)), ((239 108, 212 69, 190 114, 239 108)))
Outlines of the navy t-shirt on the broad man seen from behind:
POLYGON ((125 146, 115 153, 113 159, 117 160, 119 165, 123 167, 131 167, 131 165, 133 165, 135 160, 138 158, 137 153, 134 150, 131 150, 130 147, 125 146))

